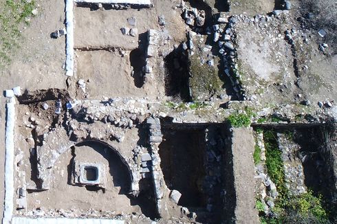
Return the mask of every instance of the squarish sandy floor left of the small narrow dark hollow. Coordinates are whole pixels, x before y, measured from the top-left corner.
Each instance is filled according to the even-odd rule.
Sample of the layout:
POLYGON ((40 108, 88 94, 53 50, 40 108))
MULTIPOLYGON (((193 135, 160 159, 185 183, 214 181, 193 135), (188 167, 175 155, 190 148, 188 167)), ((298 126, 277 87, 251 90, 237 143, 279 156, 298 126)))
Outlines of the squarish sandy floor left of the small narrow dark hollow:
MULTIPOLYGON (((89 98, 100 99, 106 97, 145 97, 148 95, 144 88, 135 86, 135 79, 131 76, 129 55, 121 56, 118 52, 105 50, 91 52, 76 52, 78 79, 87 82, 89 98), (118 69, 117 69, 118 68, 118 69)), ((78 97, 83 94, 79 90, 78 97)), ((155 91, 150 92, 153 96, 155 91)))

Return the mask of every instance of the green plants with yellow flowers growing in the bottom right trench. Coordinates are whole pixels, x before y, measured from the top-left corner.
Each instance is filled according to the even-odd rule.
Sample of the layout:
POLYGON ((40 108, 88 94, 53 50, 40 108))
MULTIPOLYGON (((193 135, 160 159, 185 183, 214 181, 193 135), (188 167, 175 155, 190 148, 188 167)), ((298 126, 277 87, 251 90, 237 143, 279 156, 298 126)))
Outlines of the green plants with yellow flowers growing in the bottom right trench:
MULTIPOLYGON (((292 137, 292 134, 292 132, 285 133, 287 137, 292 137)), ((276 199, 275 207, 272 209, 276 216, 261 216, 261 223, 329 223, 321 195, 316 196, 311 190, 298 196, 290 195, 287 188, 285 188, 283 161, 281 159, 281 151, 277 146, 276 133, 274 131, 264 131, 263 136, 266 155, 265 165, 270 179, 276 184, 279 197, 276 199)), ((258 207, 258 201, 257 209, 260 214, 263 214, 260 210, 261 207, 258 207)))

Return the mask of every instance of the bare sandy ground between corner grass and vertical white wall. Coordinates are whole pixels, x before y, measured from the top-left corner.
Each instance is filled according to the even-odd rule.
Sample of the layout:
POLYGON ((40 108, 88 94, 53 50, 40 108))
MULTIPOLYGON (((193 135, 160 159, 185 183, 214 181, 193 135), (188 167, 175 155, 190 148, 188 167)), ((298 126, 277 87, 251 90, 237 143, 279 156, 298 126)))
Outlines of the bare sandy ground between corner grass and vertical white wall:
POLYGON ((65 37, 53 39, 50 34, 64 27, 64 1, 36 1, 38 14, 30 25, 22 27, 22 42, 12 56, 12 64, 3 69, 1 89, 21 86, 23 89, 65 88, 65 37))

